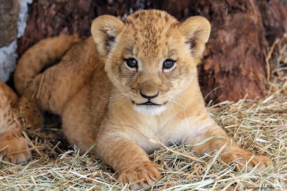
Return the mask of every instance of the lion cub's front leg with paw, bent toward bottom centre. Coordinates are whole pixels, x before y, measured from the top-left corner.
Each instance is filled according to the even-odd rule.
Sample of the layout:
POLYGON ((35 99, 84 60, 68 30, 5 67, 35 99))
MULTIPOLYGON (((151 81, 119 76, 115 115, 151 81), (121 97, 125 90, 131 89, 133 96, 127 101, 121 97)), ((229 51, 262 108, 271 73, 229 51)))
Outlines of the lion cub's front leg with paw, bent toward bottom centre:
MULTIPOLYGON (((151 186, 161 175, 160 165, 150 161, 145 151, 121 132, 99 132, 97 153, 119 174, 119 182, 133 183, 130 189, 151 186)), ((124 134, 124 133, 123 133, 124 134)))

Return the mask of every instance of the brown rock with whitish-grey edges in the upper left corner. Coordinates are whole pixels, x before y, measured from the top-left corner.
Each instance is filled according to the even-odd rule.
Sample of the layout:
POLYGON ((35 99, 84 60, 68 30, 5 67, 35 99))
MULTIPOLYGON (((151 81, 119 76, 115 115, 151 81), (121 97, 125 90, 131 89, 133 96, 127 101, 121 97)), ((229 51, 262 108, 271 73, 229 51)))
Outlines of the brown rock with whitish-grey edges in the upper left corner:
POLYGON ((25 31, 28 5, 33 0, 0 0, 0 80, 14 72, 18 55, 17 38, 25 31))

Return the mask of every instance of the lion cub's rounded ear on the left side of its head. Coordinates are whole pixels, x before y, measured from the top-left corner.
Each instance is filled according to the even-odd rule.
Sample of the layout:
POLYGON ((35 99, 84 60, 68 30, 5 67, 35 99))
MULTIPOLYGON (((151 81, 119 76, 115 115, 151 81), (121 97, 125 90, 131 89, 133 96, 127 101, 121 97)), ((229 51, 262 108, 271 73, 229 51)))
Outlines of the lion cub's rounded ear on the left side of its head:
POLYGON ((111 15, 102 15, 93 20, 91 33, 100 56, 108 55, 117 35, 123 28, 123 21, 111 15))

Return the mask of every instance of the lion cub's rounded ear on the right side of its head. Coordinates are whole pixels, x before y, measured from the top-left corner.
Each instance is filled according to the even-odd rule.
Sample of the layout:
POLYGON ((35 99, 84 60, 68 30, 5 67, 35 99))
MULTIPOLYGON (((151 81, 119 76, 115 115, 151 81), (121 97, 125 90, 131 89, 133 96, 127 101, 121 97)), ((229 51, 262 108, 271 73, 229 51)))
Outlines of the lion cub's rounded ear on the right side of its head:
POLYGON ((195 59, 201 59, 205 43, 210 34, 210 23, 202 16, 189 17, 179 24, 179 31, 189 44, 190 52, 195 59))

